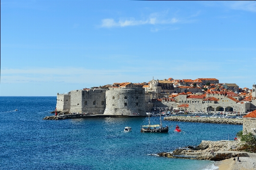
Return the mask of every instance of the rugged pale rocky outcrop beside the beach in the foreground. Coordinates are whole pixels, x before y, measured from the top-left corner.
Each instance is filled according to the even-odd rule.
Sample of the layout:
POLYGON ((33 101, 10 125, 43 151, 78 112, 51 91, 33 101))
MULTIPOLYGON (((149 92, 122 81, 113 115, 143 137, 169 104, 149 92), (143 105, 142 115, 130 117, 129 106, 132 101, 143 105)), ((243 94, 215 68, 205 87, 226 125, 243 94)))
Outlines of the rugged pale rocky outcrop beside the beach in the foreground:
POLYGON ((197 147, 176 149, 172 153, 158 153, 158 156, 168 158, 188 158, 210 161, 221 161, 232 157, 256 156, 256 153, 239 152, 239 141, 202 141, 197 147), (213 153, 212 153, 213 151, 213 153))

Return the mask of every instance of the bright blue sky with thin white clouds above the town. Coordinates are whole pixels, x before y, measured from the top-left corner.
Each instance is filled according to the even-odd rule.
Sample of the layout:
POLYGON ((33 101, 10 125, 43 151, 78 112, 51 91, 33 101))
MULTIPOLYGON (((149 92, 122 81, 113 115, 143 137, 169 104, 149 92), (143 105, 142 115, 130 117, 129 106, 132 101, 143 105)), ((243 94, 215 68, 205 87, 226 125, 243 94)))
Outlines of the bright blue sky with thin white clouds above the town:
POLYGON ((153 77, 256 83, 256 1, 0 2, 0 96, 153 77))

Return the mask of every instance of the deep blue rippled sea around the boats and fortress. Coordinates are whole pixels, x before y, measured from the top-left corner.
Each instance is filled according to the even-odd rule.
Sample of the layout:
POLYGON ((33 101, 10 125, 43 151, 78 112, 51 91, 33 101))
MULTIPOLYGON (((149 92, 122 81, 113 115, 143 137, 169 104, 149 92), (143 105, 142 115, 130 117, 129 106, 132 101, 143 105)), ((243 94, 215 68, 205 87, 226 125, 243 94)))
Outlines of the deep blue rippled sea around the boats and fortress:
MULTIPOLYGON (((0 97, 0 170, 216 170, 214 161, 159 157, 202 140, 233 139, 242 125, 163 121, 168 133, 141 133, 148 118, 43 120, 56 96, 0 97), (18 111, 15 111, 18 109, 18 111), (176 124, 182 132, 174 132, 176 124), (124 127, 132 127, 124 132, 124 127)), ((159 124, 159 117, 150 118, 159 124)))

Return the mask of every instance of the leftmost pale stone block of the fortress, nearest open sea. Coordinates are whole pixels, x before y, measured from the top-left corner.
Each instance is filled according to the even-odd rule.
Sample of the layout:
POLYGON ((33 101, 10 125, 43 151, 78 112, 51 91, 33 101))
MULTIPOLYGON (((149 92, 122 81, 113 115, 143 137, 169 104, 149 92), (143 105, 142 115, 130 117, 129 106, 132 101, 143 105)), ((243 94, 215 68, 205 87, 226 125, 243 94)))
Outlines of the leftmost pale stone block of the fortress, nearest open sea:
POLYGON ((70 94, 57 94, 57 111, 70 110, 70 94))

